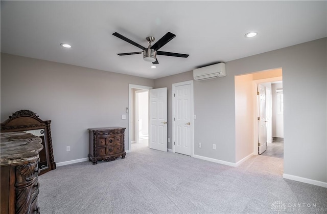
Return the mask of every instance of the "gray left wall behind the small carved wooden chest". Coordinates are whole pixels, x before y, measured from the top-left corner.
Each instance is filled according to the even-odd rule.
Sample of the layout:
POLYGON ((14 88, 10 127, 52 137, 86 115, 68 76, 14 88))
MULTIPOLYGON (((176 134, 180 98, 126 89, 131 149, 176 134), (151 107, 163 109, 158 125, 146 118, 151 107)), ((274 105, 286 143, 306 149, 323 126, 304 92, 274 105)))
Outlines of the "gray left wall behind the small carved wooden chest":
POLYGON ((128 150, 128 84, 153 80, 1 53, 1 121, 21 109, 52 120, 57 163, 87 157, 92 127, 126 127, 128 150))

